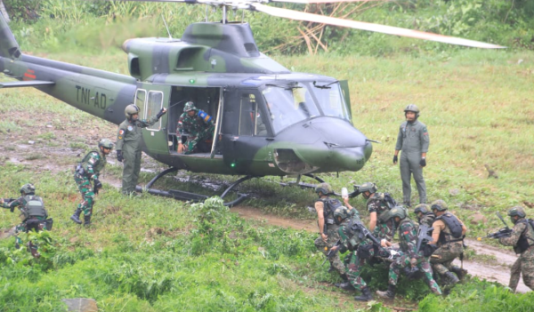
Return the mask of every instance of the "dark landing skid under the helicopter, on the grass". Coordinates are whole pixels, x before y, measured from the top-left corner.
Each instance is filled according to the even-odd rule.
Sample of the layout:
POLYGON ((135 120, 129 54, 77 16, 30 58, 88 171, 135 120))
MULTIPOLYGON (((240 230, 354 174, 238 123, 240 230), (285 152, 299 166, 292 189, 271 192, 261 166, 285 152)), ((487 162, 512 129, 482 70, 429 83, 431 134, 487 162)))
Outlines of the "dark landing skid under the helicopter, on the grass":
MULTIPOLYGON (((178 171, 178 168, 169 168, 169 169, 164 170, 163 172, 159 172, 158 175, 156 175, 152 180, 150 180, 149 183, 147 183, 147 185, 144 188, 135 187, 135 191, 136 192, 140 192, 140 193, 143 192, 143 191, 146 191, 147 193, 149 193, 151 195, 165 196, 165 197, 170 197, 170 198, 174 198, 174 199, 178 199, 178 200, 189 200, 189 201, 195 202, 195 203, 204 202, 207 198, 209 198, 209 196, 206 196, 206 195, 185 192, 185 191, 181 191, 181 190, 177 190, 177 189, 170 189, 170 190, 166 191, 166 190, 162 190, 162 189, 158 189, 158 188, 152 188, 152 185, 157 180, 161 179, 163 176, 165 176, 165 175, 167 175, 169 173, 177 172, 177 171, 178 171)), ((230 185, 230 187, 228 187, 228 188, 226 188, 224 190, 223 195, 221 195, 221 198, 224 199, 224 196, 227 196, 228 193, 230 193, 230 191, 233 188, 237 187, 242 182, 244 182, 246 180, 250 180, 252 178, 254 178, 254 177, 247 175, 246 177, 243 177, 243 178, 241 178, 239 180, 236 180, 235 182, 233 182, 230 185)), ((247 198, 247 194, 242 194, 242 193, 239 193, 239 192, 237 194, 238 194, 238 198, 234 199, 231 202, 224 203, 224 205, 228 206, 228 207, 231 207, 233 205, 241 203, 242 201, 244 201, 247 198)))

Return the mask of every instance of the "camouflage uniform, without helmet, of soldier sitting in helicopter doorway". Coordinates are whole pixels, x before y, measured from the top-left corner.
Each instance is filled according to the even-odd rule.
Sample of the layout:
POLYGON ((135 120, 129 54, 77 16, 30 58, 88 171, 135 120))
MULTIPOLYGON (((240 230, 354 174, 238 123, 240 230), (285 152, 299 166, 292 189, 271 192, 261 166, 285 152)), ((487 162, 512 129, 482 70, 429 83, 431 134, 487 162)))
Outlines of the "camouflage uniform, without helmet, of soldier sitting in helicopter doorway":
POLYGON ((185 154, 208 152, 209 150, 206 150, 208 148, 202 146, 202 142, 213 139, 214 131, 213 118, 201 109, 195 110, 195 115, 192 117, 187 112, 182 113, 176 126, 176 136, 189 134, 185 144, 187 147, 185 154))

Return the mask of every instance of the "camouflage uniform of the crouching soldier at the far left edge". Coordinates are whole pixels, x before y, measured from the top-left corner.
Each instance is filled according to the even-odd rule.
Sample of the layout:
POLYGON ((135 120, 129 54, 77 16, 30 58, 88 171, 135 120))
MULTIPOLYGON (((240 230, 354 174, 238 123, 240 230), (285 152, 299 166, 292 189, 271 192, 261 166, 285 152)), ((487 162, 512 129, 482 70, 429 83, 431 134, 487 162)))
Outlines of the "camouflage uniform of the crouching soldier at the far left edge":
MULTIPOLYGON (((44 204, 42 209, 36 209, 31 210, 31 208, 28 207, 29 202, 38 201, 41 204, 43 204, 43 199, 39 196, 35 195, 25 195, 20 196, 19 198, 15 199, 11 203, 5 203, 1 206, 6 209, 10 209, 12 212, 16 207, 19 207, 20 210, 20 220, 22 222, 15 227, 15 246, 19 248, 20 245, 22 245, 22 239, 20 238, 20 233, 28 232, 27 223, 30 220, 39 220, 42 222, 39 222, 38 229, 39 230, 46 230, 46 223, 44 220, 48 218, 48 212, 46 212, 46 209, 44 209, 44 204), (31 213, 31 214, 30 214, 31 213)), ((36 250, 36 246, 32 245, 32 249, 36 250)))

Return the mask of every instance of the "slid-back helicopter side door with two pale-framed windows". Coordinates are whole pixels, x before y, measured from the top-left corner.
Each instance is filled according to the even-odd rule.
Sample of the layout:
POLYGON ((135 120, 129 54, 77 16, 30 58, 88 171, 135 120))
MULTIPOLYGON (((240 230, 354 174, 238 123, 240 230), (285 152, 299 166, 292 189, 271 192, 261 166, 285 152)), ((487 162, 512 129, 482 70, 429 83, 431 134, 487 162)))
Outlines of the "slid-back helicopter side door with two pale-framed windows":
MULTIPOLYGON (((135 92, 135 104, 140 108, 140 119, 156 116, 161 108, 168 108, 170 85, 142 83, 135 92)), ((142 129, 142 140, 151 153, 168 154, 166 138, 167 115, 156 124, 142 129)))

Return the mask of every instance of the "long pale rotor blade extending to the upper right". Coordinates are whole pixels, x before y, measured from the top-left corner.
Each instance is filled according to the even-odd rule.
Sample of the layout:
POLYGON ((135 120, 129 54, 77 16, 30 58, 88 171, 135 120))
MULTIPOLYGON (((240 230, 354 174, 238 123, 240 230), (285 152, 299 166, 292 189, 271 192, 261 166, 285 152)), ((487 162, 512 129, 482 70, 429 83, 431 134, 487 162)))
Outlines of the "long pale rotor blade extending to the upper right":
POLYGON ((407 28, 397 28, 392 26, 372 24, 364 21, 357 20, 343 20, 325 15, 312 14, 307 12, 298 12, 293 10, 282 9, 278 7, 263 5, 263 4, 250 4, 251 7, 255 8, 258 12, 264 12, 272 16, 277 16, 281 18, 286 18, 290 20, 304 20, 312 21, 320 24, 328 24, 333 26, 341 26, 346 28, 355 28, 361 30, 374 31, 378 33, 384 33, 389 35, 396 36, 408 36, 417 39, 424 39, 435 41, 443 44, 457 44, 464 46, 471 46, 474 48, 482 49, 502 49, 506 48, 505 46, 497 44, 486 44, 480 41, 474 41, 469 39, 458 38, 454 36, 443 36, 433 33, 426 33, 423 31, 407 29, 407 28))

